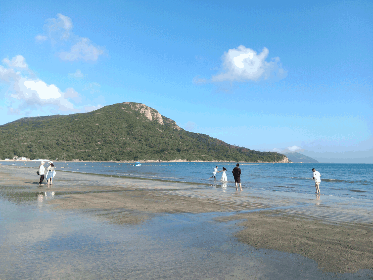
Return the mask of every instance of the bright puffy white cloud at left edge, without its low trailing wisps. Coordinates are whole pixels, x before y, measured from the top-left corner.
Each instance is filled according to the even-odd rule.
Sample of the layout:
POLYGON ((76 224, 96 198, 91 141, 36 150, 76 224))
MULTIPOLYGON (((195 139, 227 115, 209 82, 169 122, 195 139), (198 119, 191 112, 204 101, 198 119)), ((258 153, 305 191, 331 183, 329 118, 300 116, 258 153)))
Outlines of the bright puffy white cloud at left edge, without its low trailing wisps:
POLYGON ((63 97, 63 93, 56 85, 48 85, 38 78, 30 78, 27 71, 16 71, 15 68, 28 68, 23 56, 15 56, 12 60, 4 59, 3 62, 9 65, 9 68, 0 65, 0 81, 9 84, 8 114, 25 114, 27 111, 45 106, 52 106, 57 111, 64 112, 80 111, 63 97))

